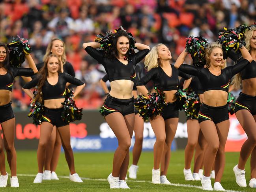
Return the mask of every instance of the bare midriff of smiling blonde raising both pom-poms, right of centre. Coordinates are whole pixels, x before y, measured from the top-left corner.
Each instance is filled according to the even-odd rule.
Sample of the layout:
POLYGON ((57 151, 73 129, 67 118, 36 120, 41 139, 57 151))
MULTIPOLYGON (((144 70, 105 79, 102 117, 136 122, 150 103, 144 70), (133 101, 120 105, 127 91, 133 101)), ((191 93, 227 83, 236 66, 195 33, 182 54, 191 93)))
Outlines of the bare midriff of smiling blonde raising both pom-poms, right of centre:
POLYGON ((213 107, 227 104, 228 93, 222 90, 209 90, 204 92, 204 104, 213 107))

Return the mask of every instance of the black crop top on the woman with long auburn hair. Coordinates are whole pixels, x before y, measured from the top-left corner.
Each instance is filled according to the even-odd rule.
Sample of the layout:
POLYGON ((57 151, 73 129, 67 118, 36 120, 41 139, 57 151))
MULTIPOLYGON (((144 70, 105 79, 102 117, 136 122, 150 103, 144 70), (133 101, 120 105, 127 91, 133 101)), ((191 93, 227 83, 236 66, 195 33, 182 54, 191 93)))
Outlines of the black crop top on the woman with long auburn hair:
MULTIPOLYGON (((30 89, 35 87, 39 82, 39 77, 37 76, 32 81, 26 83, 23 88, 24 89, 30 89)), ((67 73, 59 73, 58 82, 55 85, 49 84, 48 80, 45 81, 45 84, 42 88, 43 93, 43 99, 59 99, 65 97, 65 91, 66 91, 66 83, 69 82, 71 84, 74 84, 76 86, 80 86, 84 84, 79 79, 67 74, 67 73)))

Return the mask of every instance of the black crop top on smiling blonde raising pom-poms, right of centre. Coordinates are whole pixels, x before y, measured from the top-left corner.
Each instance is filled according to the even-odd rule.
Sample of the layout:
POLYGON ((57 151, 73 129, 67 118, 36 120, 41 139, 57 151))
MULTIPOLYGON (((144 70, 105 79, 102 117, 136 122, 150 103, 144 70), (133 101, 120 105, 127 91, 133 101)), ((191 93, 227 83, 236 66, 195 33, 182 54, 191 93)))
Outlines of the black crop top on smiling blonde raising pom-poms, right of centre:
POLYGON ((248 60, 244 59, 234 66, 222 69, 219 76, 213 75, 209 69, 193 67, 186 64, 182 64, 179 67, 179 70, 190 75, 198 76, 202 84, 203 91, 222 90, 228 92, 228 86, 232 76, 242 71, 249 63, 250 62, 248 60))

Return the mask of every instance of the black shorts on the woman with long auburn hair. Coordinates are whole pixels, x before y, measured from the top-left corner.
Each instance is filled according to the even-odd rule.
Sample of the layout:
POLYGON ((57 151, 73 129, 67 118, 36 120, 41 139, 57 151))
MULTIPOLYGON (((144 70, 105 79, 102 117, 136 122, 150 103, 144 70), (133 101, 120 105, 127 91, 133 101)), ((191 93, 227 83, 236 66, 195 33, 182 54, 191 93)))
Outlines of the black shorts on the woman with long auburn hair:
POLYGON ((62 120, 61 118, 62 111, 63 111, 63 108, 49 109, 47 107, 44 107, 42 122, 49 122, 56 127, 63 127, 65 125, 69 125, 69 123, 66 123, 62 120))

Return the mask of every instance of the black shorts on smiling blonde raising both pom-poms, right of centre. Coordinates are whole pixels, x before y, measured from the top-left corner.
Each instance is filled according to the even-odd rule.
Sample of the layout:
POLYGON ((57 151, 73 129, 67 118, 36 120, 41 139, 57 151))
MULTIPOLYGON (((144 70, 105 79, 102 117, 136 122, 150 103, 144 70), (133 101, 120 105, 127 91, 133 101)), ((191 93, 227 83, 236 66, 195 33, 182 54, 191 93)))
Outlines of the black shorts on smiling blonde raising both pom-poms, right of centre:
POLYGON ((228 119, 228 104, 220 107, 213 107, 203 103, 200 107, 198 114, 198 123, 206 120, 211 120, 213 121, 213 123, 217 124, 228 119))

